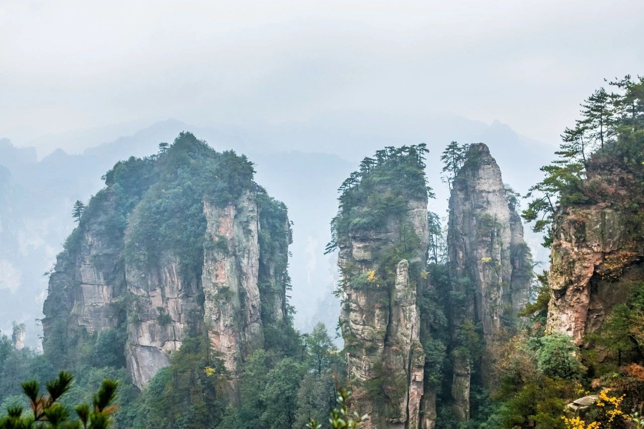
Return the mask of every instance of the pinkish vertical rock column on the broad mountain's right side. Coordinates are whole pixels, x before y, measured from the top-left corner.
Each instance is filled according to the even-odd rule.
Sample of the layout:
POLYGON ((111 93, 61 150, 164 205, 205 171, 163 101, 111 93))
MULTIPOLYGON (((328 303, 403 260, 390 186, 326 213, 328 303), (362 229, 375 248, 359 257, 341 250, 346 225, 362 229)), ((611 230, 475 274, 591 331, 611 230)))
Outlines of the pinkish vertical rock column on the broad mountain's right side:
POLYGON ((204 310, 210 345, 232 383, 243 359, 263 345, 258 288, 260 222, 254 198, 218 209, 204 203, 206 234, 215 245, 204 254, 204 310))

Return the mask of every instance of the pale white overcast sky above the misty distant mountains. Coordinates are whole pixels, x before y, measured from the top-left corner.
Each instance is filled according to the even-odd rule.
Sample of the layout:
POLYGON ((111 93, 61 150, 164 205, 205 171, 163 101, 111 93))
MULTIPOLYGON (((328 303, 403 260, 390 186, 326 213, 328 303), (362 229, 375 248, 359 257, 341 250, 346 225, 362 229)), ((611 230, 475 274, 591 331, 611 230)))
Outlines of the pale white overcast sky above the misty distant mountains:
POLYGON ((449 111, 555 144, 643 35, 642 0, 0 0, 0 137, 449 111))

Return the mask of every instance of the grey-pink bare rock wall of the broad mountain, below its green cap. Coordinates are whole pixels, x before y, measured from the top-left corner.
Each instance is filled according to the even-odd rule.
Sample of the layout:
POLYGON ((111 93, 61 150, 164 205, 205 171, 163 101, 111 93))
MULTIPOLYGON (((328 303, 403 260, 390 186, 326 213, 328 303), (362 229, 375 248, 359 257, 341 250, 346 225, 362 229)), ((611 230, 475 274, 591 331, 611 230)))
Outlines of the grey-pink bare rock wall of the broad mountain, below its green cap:
MULTIPOLYGON (((71 336, 84 341, 106 329, 126 331, 126 365, 133 383, 143 388, 185 339, 207 334, 230 374, 234 399, 240 365, 264 345, 263 323, 287 321, 285 207, 279 233, 288 240, 262 251, 255 193, 226 207, 205 198, 203 265, 185 272, 169 251, 155 262, 126 264, 122 231, 106 226, 103 213, 110 208, 106 198, 77 228, 73 246, 58 256, 44 305, 44 347, 54 347, 52 338, 60 347, 71 336), (260 284, 270 287, 260 292, 260 284)), ((64 361, 69 358, 62 353, 64 361)))

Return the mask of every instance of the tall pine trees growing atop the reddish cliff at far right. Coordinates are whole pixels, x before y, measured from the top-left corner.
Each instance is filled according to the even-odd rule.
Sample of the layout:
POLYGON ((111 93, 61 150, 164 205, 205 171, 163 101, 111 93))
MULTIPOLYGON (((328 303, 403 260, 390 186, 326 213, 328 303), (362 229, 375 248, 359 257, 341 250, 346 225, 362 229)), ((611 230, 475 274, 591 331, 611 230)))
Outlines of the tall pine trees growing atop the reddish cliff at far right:
POLYGON ((551 223, 557 207, 597 202, 598 194, 588 179, 594 164, 609 158, 614 166, 641 175, 644 153, 644 77, 611 82, 618 92, 604 88, 582 104, 581 119, 566 128, 558 159, 541 168, 544 180, 529 189, 531 198, 522 216, 533 231, 544 233, 544 246, 552 242, 551 223))

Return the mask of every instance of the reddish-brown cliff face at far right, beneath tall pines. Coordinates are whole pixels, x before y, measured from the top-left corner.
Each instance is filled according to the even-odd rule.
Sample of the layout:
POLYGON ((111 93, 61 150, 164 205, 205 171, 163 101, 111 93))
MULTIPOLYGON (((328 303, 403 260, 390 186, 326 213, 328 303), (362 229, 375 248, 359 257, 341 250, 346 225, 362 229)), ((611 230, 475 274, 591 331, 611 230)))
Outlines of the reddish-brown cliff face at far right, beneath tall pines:
POLYGON ((555 214, 549 275, 546 330, 576 345, 644 278, 644 178, 606 160, 592 160, 587 176, 596 202, 555 214))

